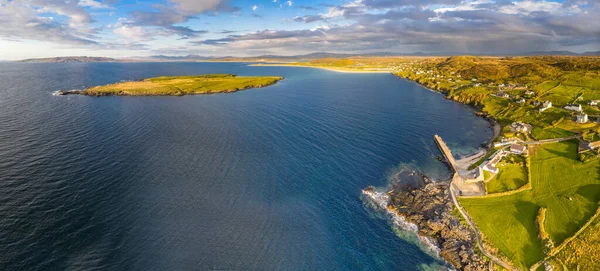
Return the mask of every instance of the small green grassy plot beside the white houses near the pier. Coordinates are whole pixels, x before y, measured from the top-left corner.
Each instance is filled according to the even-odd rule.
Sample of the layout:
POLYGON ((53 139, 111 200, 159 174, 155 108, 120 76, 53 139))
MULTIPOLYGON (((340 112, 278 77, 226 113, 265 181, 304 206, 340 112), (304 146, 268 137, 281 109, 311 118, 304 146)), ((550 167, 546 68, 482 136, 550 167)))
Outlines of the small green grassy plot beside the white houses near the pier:
POLYGON ((508 192, 527 184, 525 158, 509 155, 498 164, 500 172, 485 184, 488 194, 508 192))

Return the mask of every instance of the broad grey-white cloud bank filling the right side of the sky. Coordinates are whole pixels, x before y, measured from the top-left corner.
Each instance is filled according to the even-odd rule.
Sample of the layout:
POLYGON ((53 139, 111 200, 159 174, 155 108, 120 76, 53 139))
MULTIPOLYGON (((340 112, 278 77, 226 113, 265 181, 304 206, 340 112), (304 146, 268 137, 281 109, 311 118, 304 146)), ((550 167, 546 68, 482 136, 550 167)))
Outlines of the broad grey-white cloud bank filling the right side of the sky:
POLYGON ((226 50, 290 53, 508 53, 569 46, 600 49, 600 20, 595 19, 599 15, 597 5, 582 8, 581 2, 565 6, 550 1, 356 0, 330 7, 327 13, 292 19, 325 22, 321 27, 257 31, 199 43, 226 50))

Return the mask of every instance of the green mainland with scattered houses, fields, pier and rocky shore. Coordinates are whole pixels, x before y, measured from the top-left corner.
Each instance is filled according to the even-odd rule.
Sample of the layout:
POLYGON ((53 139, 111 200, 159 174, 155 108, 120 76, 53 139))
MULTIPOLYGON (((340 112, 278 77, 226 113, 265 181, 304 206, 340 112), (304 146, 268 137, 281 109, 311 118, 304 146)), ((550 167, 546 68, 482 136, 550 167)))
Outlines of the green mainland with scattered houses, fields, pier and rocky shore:
POLYGON ((262 65, 388 72, 474 107, 496 127, 484 151, 470 157, 454 157, 444 134, 436 136, 449 180, 392 184, 384 194, 387 211, 417 225, 416 233, 455 268, 480 268, 487 261, 479 255, 498 270, 600 269, 599 57, 351 57, 262 65))

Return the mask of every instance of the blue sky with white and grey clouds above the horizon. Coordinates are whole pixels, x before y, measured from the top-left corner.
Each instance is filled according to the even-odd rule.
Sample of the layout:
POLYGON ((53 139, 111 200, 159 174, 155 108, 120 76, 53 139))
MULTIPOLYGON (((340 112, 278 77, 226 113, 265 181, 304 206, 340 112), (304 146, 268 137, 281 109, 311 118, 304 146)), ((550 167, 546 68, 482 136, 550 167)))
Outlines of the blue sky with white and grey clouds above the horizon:
POLYGON ((600 51, 600 0, 0 0, 0 59, 600 51))

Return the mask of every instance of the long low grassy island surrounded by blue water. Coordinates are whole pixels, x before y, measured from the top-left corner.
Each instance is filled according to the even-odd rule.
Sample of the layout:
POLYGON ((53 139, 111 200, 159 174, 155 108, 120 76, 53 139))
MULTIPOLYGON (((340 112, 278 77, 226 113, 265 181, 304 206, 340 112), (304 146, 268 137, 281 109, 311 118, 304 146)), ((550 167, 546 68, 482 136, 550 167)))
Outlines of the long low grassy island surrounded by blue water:
POLYGON ((88 96, 183 96, 192 94, 230 93, 273 85, 279 76, 236 76, 233 74, 203 74, 161 76, 140 81, 124 81, 84 90, 59 90, 57 95, 88 96))

